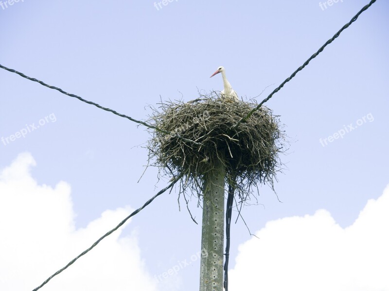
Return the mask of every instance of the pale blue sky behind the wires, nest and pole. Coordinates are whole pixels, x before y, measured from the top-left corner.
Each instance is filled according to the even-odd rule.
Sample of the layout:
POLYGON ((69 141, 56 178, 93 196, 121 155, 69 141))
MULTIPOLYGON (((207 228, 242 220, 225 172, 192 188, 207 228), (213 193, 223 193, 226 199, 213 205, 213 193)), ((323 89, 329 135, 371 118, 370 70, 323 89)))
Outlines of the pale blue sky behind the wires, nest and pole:
MULTIPOLYGON (((156 106, 160 98, 182 96, 189 101, 197 97, 197 88, 221 90, 221 76, 209 78, 219 65, 226 68, 239 96, 255 97, 273 84, 257 98, 261 101, 368 3, 339 0, 322 9, 319 3, 323 2, 177 0, 157 9, 153 1, 20 0, 5 9, 0 5, 0 64, 136 119, 146 119, 151 114, 148 106, 156 106)), ((375 199, 378 208, 386 201, 382 197, 389 184, 388 12, 389 3, 377 1, 266 103, 281 115, 291 144, 281 157, 286 169, 275 184, 282 203, 264 186, 258 197, 262 205, 245 207, 242 212, 252 233, 271 235, 271 231, 264 230, 272 229, 269 224, 283 225, 283 219, 293 217, 325 222, 333 219, 340 230, 346 231, 355 225, 370 199, 375 199), (350 126, 353 130, 335 139, 336 133, 350 126)), ((124 218, 129 209, 141 206, 167 183, 158 181, 155 168, 148 168, 138 182, 147 163, 143 146, 150 138, 144 127, 5 70, 0 70, 1 137, 9 142, 0 142, 0 203, 7 210, 4 213, 9 214, 4 219, 16 215, 20 220, 18 233, 30 234, 20 240, 51 242, 47 228, 37 231, 40 236, 33 238, 35 233, 24 226, 25 220, 36 214, 26 216, 27 206, 37 207, 42 213, 51 209, 47 215, 58 216, 63 225, 72 225, 74 233, 88 233, 82 246, 75 246, 82 251, 124 218), (11 135, 25 132, 23 129, 31 129, 30 125, 39 122, 39 128, 25 137, 10 140, 11 135), (11 174, 4 169, 11 169, 11 174), (18 183, 12 182, 18 181, 19 176, 31 186, 20 190, 22 193, 36 190, 31 190, 36 199, 29 200, 28 205, 13 196, 21 194, 13 188, 18 183), (58 183, 65 183, 67 190, 55 191, 58 183), (45 187, 53 188, 53 201, 41 193, 45 187), (60 210, 54 211, 61 209, 55 200, 56 195, 62 195, 58 193, 65 193, 62 199, 68 207, 62 216, 60 210), (42 204, 45 207, 40 208, 42 204), (112 217, 108 215, 105 220, 102 213, 106 211, 112 212, 112 217), (96 224, 101 227, 92 231, 90 227, 96 224)), ((201 209, 196 208, 196 202, 192 200, 191 210, 199 222, 201 209)), ((234 215, 236 218, 236 212, 234 215)), ((2 221, 0 226, 6 227, 2 221)), ((313 221, 314 229, 320 229, 321 224, 313 221)), ((382 227, 387 226, 383 219, 379 221, 382 227)), ((63 235, 61 224, 52 227, 58 228, 59 236, 63 235)), ((289 225, 285 223, 285 227, 280 227, 279 232, 275 227, 274 233, 283 233, 282 229, 289 225)), ((0 237, 0 241, 12 245, 12 237, 18 236, 11 234, 0 237)), ((230 269, 241 268, 231 274, 245 274, 236 259, 243 258, 245 246, 255 242, 242 220, 232 225, 231 234, 230 269)), ((300 239, 301 243, 310 242, 304 236, 300 239)), ((72 242, 77 245, 78 240, 72 242)), ((200 251, 200 242, 201 226, 192 222, 186 210, 178 211, 177 191, 173 191, 136 215, 112 243, 117 247, 115 254, 130 249, 126 254, 137 258, 134 261, 142 270, 139 284, 169 270, 178 261, 191 261, 177 275, 154 282, 144 290, 194 291, 198 290, 199 260, 190 258, 200 251)), ((367 257, 373 248, 369 243, 360 250, 367 257)), ((65 263, 77 254, 66 251, 66 244, 62 247, 57 251, 69 254, 61 260, 65 263)), ((54 254, 55 248, 51 251, 54 254)), ((387 249, 386 252, 388 256, 387 249)), ((92 251, 83 260, 98 264, 99 254, 109 257, 109 248, 100 253, 92 251)), ((27 290, 62 266, 52 265, 50 258, 29 261, 26 257, 23 270, 31 272, 27 266, 32 265, 33 269, 42 269, 26 281, 27 290), (52 268, 46 270, 42 267, 45 264, 52 268)), ((316 262, 320 264, 319 259, 316 262)), ((122 259, 118 265, 125 269, 126 263, 122 259)), ((248 260, 245 265, 255 270, 260 264, 259 260, 250 265, 248 260)), ((0 287, 14 286, 24 276, 17 267, 8 269, 13 276, 0 277, 0 287)), ((106 274, 105 279, 115 281, 118 276, 121 275, 106 274)), ((82 280, 82 275, 71 279, 77 286, 83 284, 82 280)), ((237 277, 230 280, 236 280, 231 281, 231 286, 239 281, 237 277)), ((335 285, 338 282, 333 281, 335 285)), ((260 282, 252 284, 261 286, 260 282)), ((46 290, 59 290, 50 284, 46 290)), ((125 284, 131 290, 131 283, 125 284)), ((78 290, 77 286, 69 288, 78 290)), ((289 290, 305 290, 298 288, 292 286, 289 290)), ((389 290, 388 285, 377 288, 389 290)))

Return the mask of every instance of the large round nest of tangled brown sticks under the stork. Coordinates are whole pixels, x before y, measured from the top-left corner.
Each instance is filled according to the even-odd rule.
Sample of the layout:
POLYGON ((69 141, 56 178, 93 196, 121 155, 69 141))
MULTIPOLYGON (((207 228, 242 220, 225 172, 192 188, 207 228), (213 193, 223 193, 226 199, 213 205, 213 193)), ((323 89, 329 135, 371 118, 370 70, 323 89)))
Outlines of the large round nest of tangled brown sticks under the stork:
POLYGON ((281 170, 279 154, 285 150, 279 116, 261 107, 234 127, 256 105, 252 100, 227 103, 216 92, 200 94, 187 103, 159 104, 148 120, 161 130, 152 131, 150 161, 163 174, 182 177, 180 193, 184 197, 188 188, 201 197, 204 175, 215 159, 226 165, 227 182, 234 184, 243 201, 260 183, 274 189, 275 174, 281 170))

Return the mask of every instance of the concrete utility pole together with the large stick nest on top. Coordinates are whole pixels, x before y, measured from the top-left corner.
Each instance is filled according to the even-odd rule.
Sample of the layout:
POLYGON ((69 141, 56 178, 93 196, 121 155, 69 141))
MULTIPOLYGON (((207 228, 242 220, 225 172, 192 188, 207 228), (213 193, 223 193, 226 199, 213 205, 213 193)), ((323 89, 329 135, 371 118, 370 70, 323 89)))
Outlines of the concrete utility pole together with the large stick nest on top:
MULTIPOLYGON (((280 120, 255 102, 224 102, 217 92, 200 94, 187 103, 169 101, 161 108, 162 112, 155 109, 151 117, 159 130, 153 131, 149 142, 149 161, 155 159, 154 165, 165 174, 179 177, 187 206, 188 193, 198 194, 203 201, 200 291, 228 291, 234 192, 249 197, 259 184, 273 186, 273 178, 281 169, 278 155, 284 143, 280 120), (237 128, 248 114, 250 119, 237 128)), ((245 203, 245 199, 239 203, 245 203)))

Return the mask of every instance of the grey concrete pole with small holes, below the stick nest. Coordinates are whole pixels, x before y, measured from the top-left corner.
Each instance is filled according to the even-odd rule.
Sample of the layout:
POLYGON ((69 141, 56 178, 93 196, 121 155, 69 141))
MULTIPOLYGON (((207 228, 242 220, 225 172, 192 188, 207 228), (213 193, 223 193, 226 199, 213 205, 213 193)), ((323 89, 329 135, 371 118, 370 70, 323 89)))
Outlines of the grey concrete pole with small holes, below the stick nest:
POLYGON ((200 291, 223 291, 225 165, 215 159, 204 181, 200 291))

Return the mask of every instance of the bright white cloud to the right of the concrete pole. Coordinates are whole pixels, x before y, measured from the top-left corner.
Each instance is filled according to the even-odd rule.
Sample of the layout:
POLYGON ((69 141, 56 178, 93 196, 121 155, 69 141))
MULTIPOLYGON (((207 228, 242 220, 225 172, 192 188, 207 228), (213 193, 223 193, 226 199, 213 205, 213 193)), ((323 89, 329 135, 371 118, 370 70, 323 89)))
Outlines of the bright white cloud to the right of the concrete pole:
POLYGON ((326 210, 271 221, 239 246, 230 290, 389 291, 389 186, 352 226, 326 210))

